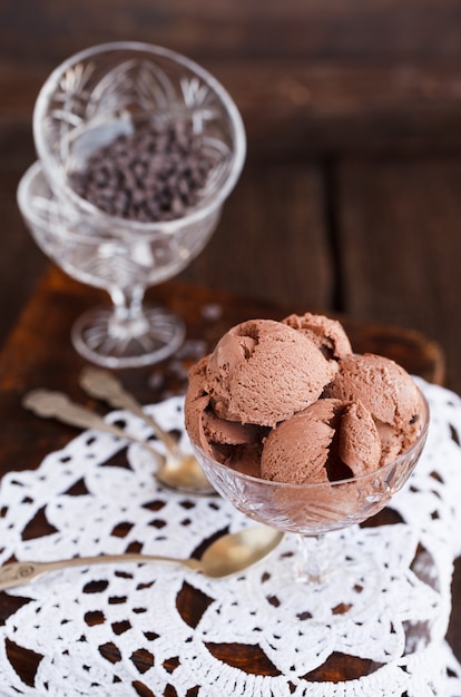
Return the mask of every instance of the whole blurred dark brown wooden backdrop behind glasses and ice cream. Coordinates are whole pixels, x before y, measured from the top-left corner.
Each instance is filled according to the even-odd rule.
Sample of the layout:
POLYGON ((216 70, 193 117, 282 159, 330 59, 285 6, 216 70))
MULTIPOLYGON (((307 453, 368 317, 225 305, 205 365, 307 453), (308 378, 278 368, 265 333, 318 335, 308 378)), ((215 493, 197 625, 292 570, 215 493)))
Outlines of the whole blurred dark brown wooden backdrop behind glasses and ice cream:
POLYGON ((0 340, 48 263, 16 204, 37 94, 122 39, 196 59, 245 120, 244 174, 183 278, 419 330, 461 392, 458 0, 1 0, 0 340))

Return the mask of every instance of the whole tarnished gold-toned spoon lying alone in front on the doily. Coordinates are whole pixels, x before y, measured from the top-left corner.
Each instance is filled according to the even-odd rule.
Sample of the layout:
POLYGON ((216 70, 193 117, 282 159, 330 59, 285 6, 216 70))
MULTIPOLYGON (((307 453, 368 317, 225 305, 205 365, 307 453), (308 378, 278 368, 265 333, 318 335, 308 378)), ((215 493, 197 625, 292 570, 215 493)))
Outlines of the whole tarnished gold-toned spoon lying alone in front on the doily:
POLYGON ((175 559, 155 554, 100 554, 96 557, 75 557, 58 561, 14 561, 0 567, 0 590, 21 586, 32 579, 68 567, 88 567, 106 563, 126 563, 154 561, 176 563, 199 571, 210 578, 224 578, 247 569, 272 552, 283 538, 283 532, 267 526, 247 528, 241 532, 225 534, 213 542, 202 559, 175 559))

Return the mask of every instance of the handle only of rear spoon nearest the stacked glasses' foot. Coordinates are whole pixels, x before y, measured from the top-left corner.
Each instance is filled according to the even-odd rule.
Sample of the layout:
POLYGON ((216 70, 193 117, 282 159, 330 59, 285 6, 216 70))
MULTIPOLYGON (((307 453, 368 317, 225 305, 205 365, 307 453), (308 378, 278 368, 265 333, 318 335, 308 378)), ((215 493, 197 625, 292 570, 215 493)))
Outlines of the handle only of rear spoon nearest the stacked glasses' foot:
POLYGON ((80 374, 80 386, 90 396, 105 400, 110 406, 126 409, 143 419, 154 431, 156 436, 163 441, 165 446, 171 452, 176 452, 176 441, 164 431, 157 421, 147 414, 136 397, 127 392, 119 380, 109 371, 88 365, 80 374))

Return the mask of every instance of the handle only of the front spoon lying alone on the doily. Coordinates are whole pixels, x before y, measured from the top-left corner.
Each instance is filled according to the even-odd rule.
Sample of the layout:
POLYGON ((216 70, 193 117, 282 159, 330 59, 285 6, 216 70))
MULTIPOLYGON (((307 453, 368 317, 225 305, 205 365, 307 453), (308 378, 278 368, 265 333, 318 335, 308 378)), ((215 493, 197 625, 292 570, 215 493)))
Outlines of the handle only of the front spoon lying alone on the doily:
POLYGON ((125 563, 137 561, 146 563, 153 561, 177 563, 189 569, 199 571, 202 565, 197 559, 175 559, 174 557, 160 557, 154 554, 100 554, 96 557, 75 557, 72 559, 61 559, 58 561, 13 561, 0 567, 0 590, 14 588, 28 583, 32 579, 57 571, 58 569, 67 569, 69 567, 89 567, 107 563, 125 563))

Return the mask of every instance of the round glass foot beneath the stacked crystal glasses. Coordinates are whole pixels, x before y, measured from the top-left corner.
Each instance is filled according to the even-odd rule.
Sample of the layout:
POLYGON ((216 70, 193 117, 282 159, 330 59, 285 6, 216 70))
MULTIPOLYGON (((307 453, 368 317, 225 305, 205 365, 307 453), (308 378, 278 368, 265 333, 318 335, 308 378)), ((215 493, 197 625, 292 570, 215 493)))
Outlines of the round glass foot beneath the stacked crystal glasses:
POLYGON ((120 321, 106 307, 89 310, 72 326, 75 348, 87 361, 109 369, 140 367, 171 355, 184 342, 183 321, 163 307, 143 308, 120 321))

